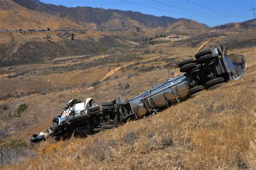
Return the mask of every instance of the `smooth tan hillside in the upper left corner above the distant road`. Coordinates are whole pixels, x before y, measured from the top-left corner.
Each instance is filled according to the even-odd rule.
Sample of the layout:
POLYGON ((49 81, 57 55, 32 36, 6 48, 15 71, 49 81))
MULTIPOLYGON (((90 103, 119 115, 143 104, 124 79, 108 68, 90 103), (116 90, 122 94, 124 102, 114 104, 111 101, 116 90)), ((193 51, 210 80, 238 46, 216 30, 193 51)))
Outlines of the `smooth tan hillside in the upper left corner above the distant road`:
POLYGON ((83 26, 68 19, 28 10, 10 0, 0 1, 0 16, 0 30, 47 29, 48 27, 83 29, 83 26))

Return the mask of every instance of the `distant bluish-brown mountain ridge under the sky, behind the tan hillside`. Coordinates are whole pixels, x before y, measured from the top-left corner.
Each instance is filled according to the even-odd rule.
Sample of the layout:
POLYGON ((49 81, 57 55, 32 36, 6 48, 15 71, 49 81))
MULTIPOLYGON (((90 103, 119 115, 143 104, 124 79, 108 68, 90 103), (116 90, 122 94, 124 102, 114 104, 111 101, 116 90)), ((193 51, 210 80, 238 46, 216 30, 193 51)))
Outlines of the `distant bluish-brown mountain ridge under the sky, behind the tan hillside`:
POLYGON ((140 26, 151 28, 156 28, 158 26, 167 27, 180 20, 172 17, 145 15, 140 12, 112 9, 105 10, 86 6, 67 8, 62 5, 44 4, 38 0, 12 1, 30 10, 67 18, 84 27, 89 27, 88 24, 96 24, 98 29, 132 29, 132 27, 140 26), (116 22, 116 20, 118 20, 118 22, 116 22))

